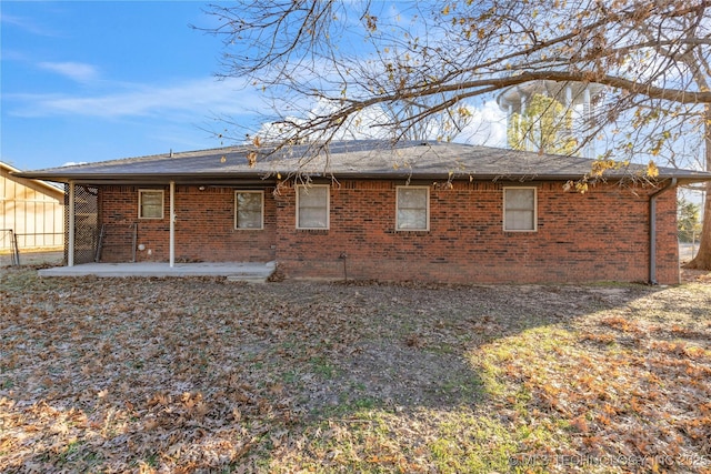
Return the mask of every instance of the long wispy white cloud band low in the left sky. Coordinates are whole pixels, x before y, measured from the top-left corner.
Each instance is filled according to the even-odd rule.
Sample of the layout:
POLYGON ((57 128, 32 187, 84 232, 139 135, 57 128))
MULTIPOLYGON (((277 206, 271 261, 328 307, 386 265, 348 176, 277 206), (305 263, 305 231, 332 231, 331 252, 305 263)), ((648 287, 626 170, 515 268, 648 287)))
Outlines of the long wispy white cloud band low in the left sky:
MULTIPOLYGON (((17 117, 93 117, 120 119, 161 117, 166 120, 208 114, 240 114, 248 107, 257 109, 256 93, 238 80, 212 78, 172 85, 122 84, 124 90, 96 95, 12 94, 7 99, 17 107, 17 117), (241 91, 239 89, 242 89, 241 91)), ((118 88, 118 87, 117 87, 118 88)))

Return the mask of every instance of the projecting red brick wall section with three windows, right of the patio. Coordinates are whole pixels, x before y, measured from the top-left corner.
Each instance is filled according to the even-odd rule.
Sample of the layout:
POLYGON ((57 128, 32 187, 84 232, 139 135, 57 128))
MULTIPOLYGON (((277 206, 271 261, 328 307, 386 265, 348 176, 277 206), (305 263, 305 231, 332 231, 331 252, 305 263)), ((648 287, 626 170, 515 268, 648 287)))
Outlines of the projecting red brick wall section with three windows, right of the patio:
MULTIPOLYGON (((648 281, 649 198, 615 185, 585 194, 538 183, 538 231, 503 231, 501 183, 430 191, 430 230, 394 230, 394 182, 342 181, 330 229, 294 229, 293 190, 279 196, 277 261, 288 276, 453 283, 648 281)), ((412 183, 415 184, 415 183, 412 183)), ((431 183, 430 183, 431 184, 431 183)), ((509 184, 507 184, 509 185, 509 184)), ((527 184, 530 185, 530 184, 527 184)), ((678 283, 675 195, 658 201, 658 281, 678 283), (663 214, 663 218, 662 218, 663 214)))

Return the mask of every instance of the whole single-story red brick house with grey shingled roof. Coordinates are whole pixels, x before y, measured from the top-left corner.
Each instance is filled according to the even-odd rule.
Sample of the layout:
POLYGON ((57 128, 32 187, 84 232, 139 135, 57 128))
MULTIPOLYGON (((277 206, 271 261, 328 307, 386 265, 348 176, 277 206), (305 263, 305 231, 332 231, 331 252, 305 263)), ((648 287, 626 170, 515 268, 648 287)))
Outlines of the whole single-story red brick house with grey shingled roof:
MULTIPOLYGON (((564 184, 590 172, 582 158, 437 142, 308 149, 22 175, 67 183, 70 222, 94 196, 101 262, 276 261, 287 278, 451 283, 678 283, 675 186, 711 180, 661 168, 649 183, 631 165, 580 193, 564 184)), ((81 263, 78 232, 68 230, 70 265, 81 263)))

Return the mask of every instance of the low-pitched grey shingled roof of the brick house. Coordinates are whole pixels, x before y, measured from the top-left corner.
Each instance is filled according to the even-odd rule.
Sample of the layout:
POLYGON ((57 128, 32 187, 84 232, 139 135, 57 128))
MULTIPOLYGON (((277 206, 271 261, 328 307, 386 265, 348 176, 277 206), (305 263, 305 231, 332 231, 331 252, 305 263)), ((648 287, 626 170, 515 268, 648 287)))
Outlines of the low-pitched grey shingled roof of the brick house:
MULTIPOLYGON (((341 141, 328 147, 300 144, 229 147, 170 152, 18 173, 22 178, 78 183, 217 183, 234 180, 274 181, 294 173, 338 179, 468 179, 478 181, 578 180, 593 161, 490 147, 442 142, 341 141), (251 162, 251 163, 250 163, 251 162)), ((647 167, 630 164, 605 172, 608 179, 643 175, 647 167)), ((659 168, 659 178, 679 183, 711 181, 711 173, 659 168)))

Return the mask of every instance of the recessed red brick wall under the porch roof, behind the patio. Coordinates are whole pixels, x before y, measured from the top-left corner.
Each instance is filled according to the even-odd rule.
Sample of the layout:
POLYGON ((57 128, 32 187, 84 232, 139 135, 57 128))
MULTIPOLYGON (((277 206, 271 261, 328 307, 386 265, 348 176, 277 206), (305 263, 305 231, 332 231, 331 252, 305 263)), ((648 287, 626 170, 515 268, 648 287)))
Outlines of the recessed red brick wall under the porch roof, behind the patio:
MULTIPOLYGON (((176 261, 268 262, 274 260, 273 189, 264 191, 264 229, 234 229, 234 189, 176 186, 176 261)), ((106 238, 101 260, 132 259, 133 226, 138 225, 137 261, 167 262, 170 258, 170 196, 168 186, 108 186, 100 192, 106 238), (138 219, 138 190, 163 189, 163 219, 138 219)))

